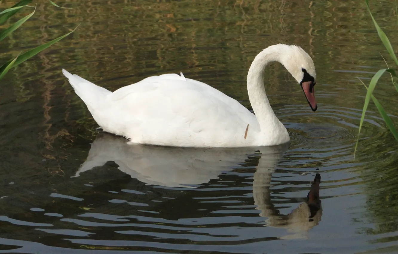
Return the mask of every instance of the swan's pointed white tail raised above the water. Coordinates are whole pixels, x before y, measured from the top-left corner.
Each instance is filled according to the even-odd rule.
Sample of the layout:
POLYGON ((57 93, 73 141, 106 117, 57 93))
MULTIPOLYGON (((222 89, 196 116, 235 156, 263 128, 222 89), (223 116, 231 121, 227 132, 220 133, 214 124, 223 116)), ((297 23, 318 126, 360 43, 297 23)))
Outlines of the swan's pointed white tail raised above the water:
POLYGON ((91 109, 95 109, 98 105, 103 104, 105 96, 111 93, 111 91, 97 86, 84 78, 80 78, 76 74, 70 74, 64 69, 62 69, 62 73, 68 78, 76 94, 83 100, 90 111, 91 109))

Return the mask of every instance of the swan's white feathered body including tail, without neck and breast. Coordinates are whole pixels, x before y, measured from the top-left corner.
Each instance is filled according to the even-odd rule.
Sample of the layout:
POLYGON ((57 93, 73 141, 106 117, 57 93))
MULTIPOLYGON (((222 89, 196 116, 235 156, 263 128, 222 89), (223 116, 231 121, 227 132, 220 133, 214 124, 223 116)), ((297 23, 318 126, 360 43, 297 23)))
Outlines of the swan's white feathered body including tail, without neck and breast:
POLYGON ((177 74, 151 76, 115 92, 63 70, 104 131, 132 143, 177 147, 256 145, 256 117, 211 86, 177 74))

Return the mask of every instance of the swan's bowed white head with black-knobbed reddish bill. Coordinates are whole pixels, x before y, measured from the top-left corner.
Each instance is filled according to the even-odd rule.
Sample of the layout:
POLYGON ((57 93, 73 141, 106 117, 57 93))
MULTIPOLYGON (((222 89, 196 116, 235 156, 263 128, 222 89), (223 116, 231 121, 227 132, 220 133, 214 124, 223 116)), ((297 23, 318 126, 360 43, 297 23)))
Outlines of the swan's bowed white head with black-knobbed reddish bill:
MULTIPOLYGON (((279 44, 281 45, 281 44, 279 44)), ((293 75, 300 84, 308 104, 312 111, 316 111, 318 106, 315 100, 315 66, 312 58, 304 49, 295 45, 281 45, 283 53, 280 56, 280 62, 293 75)))

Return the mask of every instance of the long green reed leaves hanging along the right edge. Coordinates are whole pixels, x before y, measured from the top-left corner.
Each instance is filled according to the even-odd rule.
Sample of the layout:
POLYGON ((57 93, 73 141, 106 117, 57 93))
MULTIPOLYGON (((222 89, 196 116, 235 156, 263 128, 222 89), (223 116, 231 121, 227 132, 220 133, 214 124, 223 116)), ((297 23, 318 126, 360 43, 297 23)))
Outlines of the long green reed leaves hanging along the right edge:
MULTIPOLYGON (((365 0, 365 2, 366 2, 366 6, 368 8, 369 14, 371 15, 373 23, 374 23, 374 25, 376 27, 378 37, 380 37, 380 40, 384 44, 384 47, 386 48, 386 50, 390 54, 391 58, 394 60, 394 63, 398 66, 398 59, 397 59, 397 57, 396 57, 396 55, 394 53, 394 49, 392 49, 390 40, 388 39, 387 35, 383 32, 383 30, 378 26, 375 18, 373 18, 373 15, 372 15, 371 10, 369 8, 369 0, 365 0)), ((396 6, 396 8, 397 8, 397 6, 396 6)), ((365 97, 365 103, 363 104, 362 116, 361 116, 361 121, 359 123, 358 138, 357 138, 357 143, 355 144, 354 154, 355 154, 355 152, 357 150, 357 146, 358 146, 358 142, 359 142, 359 134, 361 133, 361 127, 362 127, 362 124, 363 124, 363 120, 365 119, 365 113, 366 113, 366 110, 367 110, 367 107, 369 105, 369 101, 370 101, 371 98, 372 98, 373 102, 375 103, 380 115, 383 117, 384 121, 386 122, 386 125, 387 125, 388 129, 390 129, 392 135, 394 135, 395 139, 398 141, 398 132, 397 132, 394 124, 392 123, 390 117, 387 115, 386 111, 384 111, 384 108, 381 106, 381 104, 378 102, 378 100, 375 98, 375 96, 373 96, 373 91, 375 90, 377 81, 382 76, 382 74, 384 74, 384 72, 389 72, 390 73, 392 84, 395 86, 395 88, 396 88, 396 90, 398 92, 398 84, 394 80, 394 77, 398 77, 398 76, 397 76, 395 70, 391 69, 391 68, 378 70, 378 72, 375 74, 375 76, 373 76, 373 78, 372 78, 372 80, 371 80, 371 82, 369 84, 369 88, 365 86, 367 88, 367 93, 366 93, 366 97, 365 97)))

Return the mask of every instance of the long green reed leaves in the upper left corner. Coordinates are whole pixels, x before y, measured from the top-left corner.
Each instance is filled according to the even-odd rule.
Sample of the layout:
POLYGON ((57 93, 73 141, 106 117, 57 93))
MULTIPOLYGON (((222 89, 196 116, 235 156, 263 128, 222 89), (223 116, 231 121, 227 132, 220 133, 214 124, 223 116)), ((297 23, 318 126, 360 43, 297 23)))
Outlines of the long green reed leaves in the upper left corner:
MULTIPOLYGON (((26 5, 26 4, 30 3, 30 2, 31 2, 31 0, 21 0, 20 2, 18 2, 17 4, 12 6, 11 8, 8 8, 8 9, 0 12, 0 25, 3 24, 4 22, 6 22, 8 20, 8 18, 10 18, 14 14, 16 14, 23 7, 25 7, 25 6, 26 7, 32 7, 32 6, 27 6, 26 5)), ((54 6, 57 6, 59 8, 65 8, 65 7, 58 6, 57 4, 55 4, 52 1, 50 1, 50 2, 54 6)), ((70 8, 67 8, 67 9, 70 9, 70 8)), ((18 27, 20 27, 23 23, 25 23, 25 21, 27 21, 31 16, 33 16, 33 14, 35 14, 35 11, 36 11, 36 8, 35 8, 35 10, 33 10, 32 13, 28 14, 24 18, 18 20, 14 24, 10 25, 10 27, 0 31, 0 41, 2 41, 4 38, 6 38, 8 35, 10 35, 10 33, 15 31, 16 29, 18 29, 18 27)), ((74 30, 76 30, 76 28, 74 30)), ((40 53, 41 51, 43 51, 45 49, 47 49, 48 47, 50 47, 54 43, 60 41, 64 37, 66 37, 66 36, 70 35, 71 33, 73 33, 74 30, 69 32, 69 33, 66 33, 65 35, 62 35, 62 36, 60 36, 60 37, 58 37, 56 39, 53 39, 52 41, 49 41, 49 42, 47 42, 47 43, 45 43, 43 45, 35 47, 34 49, 31 49, 31 50, 29 50, 29 51, 27 51, 27 52, 25 52, 23 54, 19 54, 16 58, 14 58, 14 59, 2 64, 2 66, 0 66, 0 80, 4 77, 4 75, 8 72, 8 70, 10 70, 11 68, 13 68, 15 66, 18 66, 18 64, 23 63, 27 59, 37 55, 38 53, 40 53)))

